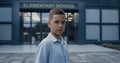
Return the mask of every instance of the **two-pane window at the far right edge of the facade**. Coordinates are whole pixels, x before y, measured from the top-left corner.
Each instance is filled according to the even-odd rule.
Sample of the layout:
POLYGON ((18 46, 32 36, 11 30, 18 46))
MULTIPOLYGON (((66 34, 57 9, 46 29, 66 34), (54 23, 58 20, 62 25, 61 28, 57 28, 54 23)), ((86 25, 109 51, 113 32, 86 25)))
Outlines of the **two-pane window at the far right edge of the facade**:
POLYGON ((119 10, 102 9, 102 23, 102 40, 119 40, 119 10))

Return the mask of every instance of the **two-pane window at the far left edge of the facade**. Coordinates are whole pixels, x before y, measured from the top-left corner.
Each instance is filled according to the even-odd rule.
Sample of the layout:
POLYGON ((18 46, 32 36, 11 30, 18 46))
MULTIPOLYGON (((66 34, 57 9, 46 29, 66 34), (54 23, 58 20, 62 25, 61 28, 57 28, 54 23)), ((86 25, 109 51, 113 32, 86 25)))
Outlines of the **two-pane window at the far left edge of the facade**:
POLYGON ((0 40, 12 39, 12 8, 0 7, 0 40))

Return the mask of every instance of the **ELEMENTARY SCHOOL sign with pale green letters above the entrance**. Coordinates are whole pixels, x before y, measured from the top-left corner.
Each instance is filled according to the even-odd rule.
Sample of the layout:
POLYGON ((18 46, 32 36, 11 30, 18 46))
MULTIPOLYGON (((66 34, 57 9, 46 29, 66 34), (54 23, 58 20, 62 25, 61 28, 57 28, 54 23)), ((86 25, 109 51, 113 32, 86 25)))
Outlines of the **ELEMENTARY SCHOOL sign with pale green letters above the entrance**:
POLYGON ((38 2, 24 2, 20 3, 20 8, 27 9, 51 9, 51 8, 63 8, 63 9, 77 9, 78 4, 74 3, 38 3, 38 2))

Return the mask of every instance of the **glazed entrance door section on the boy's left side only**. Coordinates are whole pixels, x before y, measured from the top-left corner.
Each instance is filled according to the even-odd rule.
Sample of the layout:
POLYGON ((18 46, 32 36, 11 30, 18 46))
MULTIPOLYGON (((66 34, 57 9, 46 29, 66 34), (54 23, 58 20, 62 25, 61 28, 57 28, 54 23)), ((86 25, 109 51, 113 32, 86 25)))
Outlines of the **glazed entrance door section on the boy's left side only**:
POLYGON ((49 32, 47 26, 48 13, 21 12, 22 18, 22 43, 39 44, 49 32))

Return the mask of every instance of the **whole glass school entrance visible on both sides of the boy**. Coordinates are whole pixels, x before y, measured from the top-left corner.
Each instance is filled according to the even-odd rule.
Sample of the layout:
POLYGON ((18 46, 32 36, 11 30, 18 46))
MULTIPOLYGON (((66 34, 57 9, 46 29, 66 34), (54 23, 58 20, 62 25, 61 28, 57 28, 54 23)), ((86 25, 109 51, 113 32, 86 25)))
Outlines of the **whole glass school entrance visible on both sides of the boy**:
MULTIPOLYGON (((36 44, 45 38, 50 29, 47 26, 48 12, 21 12, 22 14, 22 43, 36 44)), ((66 29, 63 33, 68 43, 76 43, 78 37, 78 13, 67 12, 66 29)))

